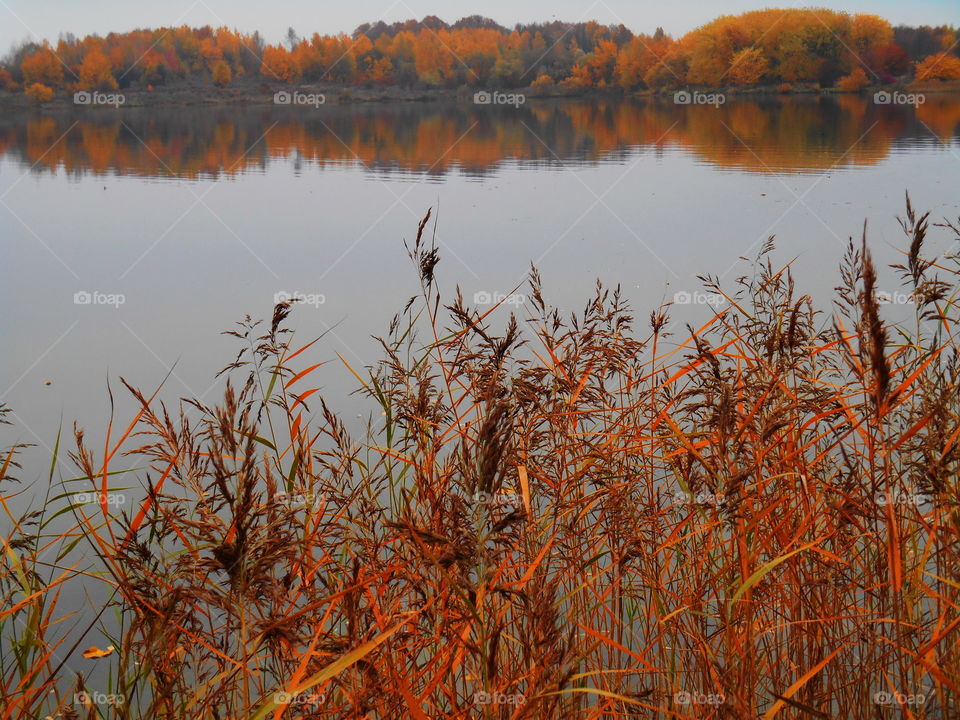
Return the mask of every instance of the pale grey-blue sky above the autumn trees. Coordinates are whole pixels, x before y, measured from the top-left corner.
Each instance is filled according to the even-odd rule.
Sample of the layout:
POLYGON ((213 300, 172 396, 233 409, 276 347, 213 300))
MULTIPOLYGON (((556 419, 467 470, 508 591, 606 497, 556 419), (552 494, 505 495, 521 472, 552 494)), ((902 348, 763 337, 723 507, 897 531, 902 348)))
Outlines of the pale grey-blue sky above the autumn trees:
MULTIPOLYGON (((227 25, 244 32, 260 30, 268 41, 282 39, 287 27, 301 35, 350 32, 363 22, 420 19, 437 15, 447 22, 485 15, 501 25, 517 22, 597 20, 623 23, 634 32, 657 26, 680 35, 717 15, 772 5, 802 7, 801 2, 763 0, 0 0, 0 53, 25 38, 56 40, 63 32, 81 36, 161 25, 227 25)), ((894 25, 960 25, 958 0, 821 0, 818 7, 883 15, 894 25)))

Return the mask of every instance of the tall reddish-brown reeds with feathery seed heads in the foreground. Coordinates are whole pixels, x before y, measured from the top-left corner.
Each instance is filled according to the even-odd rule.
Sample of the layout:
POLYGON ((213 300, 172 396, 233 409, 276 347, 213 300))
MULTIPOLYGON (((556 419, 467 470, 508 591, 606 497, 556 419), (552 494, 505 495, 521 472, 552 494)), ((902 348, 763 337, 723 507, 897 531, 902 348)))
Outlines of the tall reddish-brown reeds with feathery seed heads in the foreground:
POLYGON ((960 717, 960 266, 926 255, 956 226, 908 199, 910 322, 864 237, 833 307, 768 245, 671 333, 600 286, 564 317, 536 270, 521 318, 441 298, 428 218, 420 295, 350 367, 368 436, 278 305, 218 404, 128 386, 62 497, 8 512, 4 719, 960 717), (68 622, 67 583, 102 615, 68 622))

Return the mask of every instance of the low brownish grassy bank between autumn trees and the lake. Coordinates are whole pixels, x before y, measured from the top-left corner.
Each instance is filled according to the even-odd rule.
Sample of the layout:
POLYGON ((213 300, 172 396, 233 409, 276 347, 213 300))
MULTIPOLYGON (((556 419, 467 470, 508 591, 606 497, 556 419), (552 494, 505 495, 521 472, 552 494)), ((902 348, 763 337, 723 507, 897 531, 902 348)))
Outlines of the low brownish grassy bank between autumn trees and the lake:
MULTIPOLYGON (((931 95, 960 95, 960 81, 950 83, 914 83, 910 85, 875 86, 858 92, 844 92, 839 88, 818 88, 816 86, 795 86, 785 91, 779 86, 762 86, 753 88, 690 88, 690 93, 723 95, 724 102, 738 99, 760 99, 769 97, 791 96, 862 96, 871 97, 875 92, 887 91, 903 93, 923 93, 931 95)), ((102 96, 122 96, 120 106, 123 108, 152 108, 152 107, 222 107, 222 106, 277 106, 284 107, 275 101, 275 94, 287 93, 296 95, 298 99, 306 97, 315 99, 318 107, 324 105, 351 105, 368 103, 433 103, 459 102, 473 103, 473 95, 477 92, 489 92, 500 96, 522 96, 523 102, 537 100, 644 100, 660 99, 672 101, 674 93, 682 90, 639 91, 623 92, 619 89, 591 89, 588 91, 547 90, 543 88, 512 88, 481 91, 477 88, 400 88, 386 87, 355 87, 343 85, 284 85, 266 86, 260 83, 236 84, 230 87, 218 88, 209 85, 195 85, 183 83, 172 86, 161 86, 152 90, 144 88, 126 88, 100 93, 101 102, 97 107, 88 107, 74 102, 72 93, 61 93, 54 99, 37 103, 22 92, 0 91, 0 110, 54 110, 62 111, 71 108, 84 110, 113 110, 117 106, 104 100, 102 96)), ((290 103, 309 104, 304 103, 290 103)), ((492 105, 497 105, 494 102, 492 105)))

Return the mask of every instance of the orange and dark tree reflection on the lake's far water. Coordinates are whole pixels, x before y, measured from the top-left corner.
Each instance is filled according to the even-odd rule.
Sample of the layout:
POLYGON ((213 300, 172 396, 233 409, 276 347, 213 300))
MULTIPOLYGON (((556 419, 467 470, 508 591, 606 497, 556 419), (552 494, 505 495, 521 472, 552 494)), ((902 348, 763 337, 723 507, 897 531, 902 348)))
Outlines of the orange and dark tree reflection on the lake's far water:
POLYGON ((11 115, 0 155, 39 172, 197 178, 262 170, 360 165, 442 178, 483 177, 503 163, 622 162, 679 148, 741 171, 810 172, 878 163, 898 145, 960 136, 960 98, 917 108, 857 96, 739 100, 719 108, 669 101, 531 101, 520 109, 457 103, 163 108, 11 115))

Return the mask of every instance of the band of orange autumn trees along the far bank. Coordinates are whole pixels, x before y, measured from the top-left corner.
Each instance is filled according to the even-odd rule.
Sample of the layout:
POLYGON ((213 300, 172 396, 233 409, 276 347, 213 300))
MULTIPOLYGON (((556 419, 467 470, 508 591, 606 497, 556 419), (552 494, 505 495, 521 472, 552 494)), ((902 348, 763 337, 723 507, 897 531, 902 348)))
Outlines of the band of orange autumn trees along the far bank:
POLYGON ((117 90, 184 81, 220 87, 330 83, 406 88, 579 90, 819 85, 856 90, 905 78, 960 79, 958 30, 893 27, 877 15, 758 10, 723 16, 674 38, 658 28, 535 23, 503 27, 478 15, 364 24, 352 34, 268 44, 260 33, 170 27, 26 42, 0 63, 0 88, 38 100, 57 91, 117 90))

